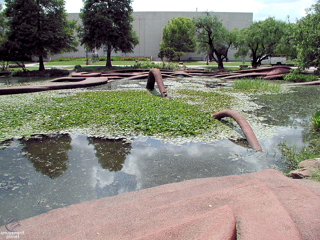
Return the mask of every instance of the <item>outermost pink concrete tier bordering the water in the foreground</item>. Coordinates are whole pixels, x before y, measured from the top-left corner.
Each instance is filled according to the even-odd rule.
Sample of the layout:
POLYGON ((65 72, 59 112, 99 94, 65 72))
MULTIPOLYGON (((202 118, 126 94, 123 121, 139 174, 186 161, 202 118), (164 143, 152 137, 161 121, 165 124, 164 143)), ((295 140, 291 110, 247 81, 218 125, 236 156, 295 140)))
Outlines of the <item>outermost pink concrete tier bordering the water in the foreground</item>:
MULTIPOLYGON (((85 231, 86 228, 92 228, 91 230, 93 230, 101 224, 110 221, 121 221, 130 215, 136 214, 143 216, 146 211, 150 212, 152 209, 157 207, 172 204, 177 201, 183 201, 184 199, 192 198, 192 196, 202 195, 208 192, 210 193, 219 189, 221 192, 224 192, 224 188, 230 188, 250 180, 259 180, 264 182, 268 186, 268 188, 266 187, 266 189, 268 189, 266 192, 272 191, 273 194, 278 197, 278 200, 281 200, 282 203, 280 202, 280 205, 276 204, 276 206, 281 206, 281 211, 287 211, 291 214, 304 239, 320 239, 320 207, 318 204, 320 196, 309 188, 297 183, 296 180, 289 179, 280 172, 272 169, 240 176, 194 179, 179 183, 166 184, 137 192, 126 193, 86 203, 74 204, 61 209, 55 209, 32 218, 19 221, 19 223, 21 224, 21 230, 23 229, 28 233, 28 235, 25 235, 26 238, 24 239, 39 239, 39 235, 37 234, 39 232, 43 233, 43 236, 45 236, 41 239, 52 239, 52 237, 62 237, 78 231, 85 231)), ((312 183, 308 184, 311 185, 312 183)), ((247 194, 244 192, 243 196, 246 195, 247 194)), ((253 195, 259 196, 259 191, 257 195, 253 195)), ((216 193, 215 196, 218 198, 220 197, 218 193, 216 193)), ((247 198, 245 197, 244 199, 247 198)), ((264 200, 265 198, 260 197, 260 200, 261 199, 264 200)), ((228 204, 228 202, 225 204, 228 204)), ((225 204, 221 203, 216 206, 212 204, 210 205, 214 208, 225 204)), ((229 205, 233 208, 232 204, 229 205)), ((252 207, 253 206, 255 205, 252 205, 252 207)), ((258 208, 256 210, 259 212, 259 204, 257 206, 258 208)), ((240 208, 243 208, 242 204, 240 204, 240 208)), ((235 209, 234 211, 236 212, 235 209)), ((171 213, 171 211, 169 211, 169 213, 171 213)), ((200 213, 201 212, 198 214, 200 213)), ((273 212, 270 213, 270 215, 272 214, 273 212)), ((188 214, 185 216, 189 217, 188 214)), ((164 219, 166 219, 165 216, 164 219)), ((238 215, 236 215, 236 219, 239 219, 238 215)), ((269 217, 267 217, 267 219, 269 219, 269 217)), ((172 224, 176 224, 176 221, 172 224)), ((265 228, 266 222, 260 224, 260 228, 265 228)), ((125 224, 124 226, 127 225, 125 224)), ((166 227, 170 227, 170 225, 166 227)), ((241 229, 242 228, 238 229, 238 233, 240 233, 239 231, 241 229)), ((0 228, 0 231, 4 230, 4 227, 0 228)), ((152 229, 150 229, 150 231, 151 230, 152 229)), ((95 236, 92 237, 93 238, 87 239, 99 239, 95 238, 95 236)))

